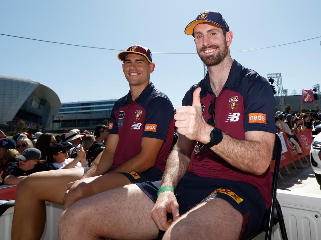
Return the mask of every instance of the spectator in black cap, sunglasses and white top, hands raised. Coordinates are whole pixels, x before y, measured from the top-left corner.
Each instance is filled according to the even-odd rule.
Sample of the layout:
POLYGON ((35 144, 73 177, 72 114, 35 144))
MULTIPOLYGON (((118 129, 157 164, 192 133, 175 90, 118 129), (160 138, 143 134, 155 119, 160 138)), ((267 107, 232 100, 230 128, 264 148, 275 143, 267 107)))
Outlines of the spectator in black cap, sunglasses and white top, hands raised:
POLYGON ((75 158, 69 158, 68 151, 72 145, 63 145, 56 143, 49 146, 47 150, 47 163, 52 163, 58 169, 74 168, 74 167, 88 167, 86 162, 86 154, 80 145, 77 150, 75 158))

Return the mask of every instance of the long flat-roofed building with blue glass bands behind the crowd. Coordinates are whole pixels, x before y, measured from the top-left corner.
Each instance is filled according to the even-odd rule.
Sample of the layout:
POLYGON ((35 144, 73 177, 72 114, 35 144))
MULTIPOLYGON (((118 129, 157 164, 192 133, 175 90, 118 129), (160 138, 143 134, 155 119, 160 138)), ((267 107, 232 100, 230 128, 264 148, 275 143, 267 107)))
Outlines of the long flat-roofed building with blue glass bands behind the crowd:
POLYGON ((67 132, 73 128, 92 130, 99 124, 108 124, 116 101, 117 99, 62 103, 47 131, 67 132))

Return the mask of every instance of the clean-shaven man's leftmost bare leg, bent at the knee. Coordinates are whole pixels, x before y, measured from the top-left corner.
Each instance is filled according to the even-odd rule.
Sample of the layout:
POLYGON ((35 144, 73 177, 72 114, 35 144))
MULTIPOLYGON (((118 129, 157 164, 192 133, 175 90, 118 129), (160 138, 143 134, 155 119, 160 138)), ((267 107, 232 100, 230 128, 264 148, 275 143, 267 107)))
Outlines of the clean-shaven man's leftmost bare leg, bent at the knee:
POLYGON ((15 197, 12 239, 40 239, 46 224, 45 201, 63 204, 67 184, 83 174, 83 168, 72 168, 36 172, 23 179, 15 197))

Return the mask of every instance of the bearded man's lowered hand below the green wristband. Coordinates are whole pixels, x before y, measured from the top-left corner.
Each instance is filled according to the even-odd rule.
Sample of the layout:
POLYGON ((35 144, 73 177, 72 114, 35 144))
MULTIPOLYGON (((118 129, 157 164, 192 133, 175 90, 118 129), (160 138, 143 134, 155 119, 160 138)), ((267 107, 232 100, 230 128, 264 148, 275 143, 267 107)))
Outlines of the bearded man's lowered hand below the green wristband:
POLYGON ((167 230, 180 217, 178 203, 173 192, 160 193, 152 210, 152 219, 162 231, 167 230), (167 219, 167 213, 173 214, 173 219, 167 219))

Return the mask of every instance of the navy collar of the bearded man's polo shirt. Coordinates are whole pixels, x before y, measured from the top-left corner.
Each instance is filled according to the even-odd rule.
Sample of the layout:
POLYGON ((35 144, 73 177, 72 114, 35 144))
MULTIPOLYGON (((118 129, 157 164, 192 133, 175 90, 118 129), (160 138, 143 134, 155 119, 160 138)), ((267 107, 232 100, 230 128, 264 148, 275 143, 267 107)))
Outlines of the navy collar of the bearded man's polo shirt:
MULTIPOLYGON (((236 88, 239 83, 239 77, 241 75, 241 71, 242 71, 242 65, 239 64, 236 60, 233 60, 233 63, 232 63, 231 69, 230 69, 230 73, 229 73, 229 76, 224 84, 224 87, 236 88)), ((213 90, 212 90, 212 87, 210 84, 210 76, 209 76, 208 72, 206 73, 204 80, 205 80, 204 83, 200 85, 200 87, 202 88, 201 95, 206 94, 206 92, 213 93, 213 90)))

